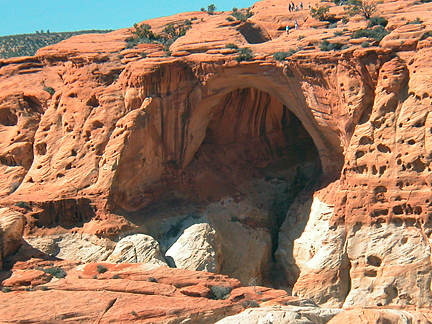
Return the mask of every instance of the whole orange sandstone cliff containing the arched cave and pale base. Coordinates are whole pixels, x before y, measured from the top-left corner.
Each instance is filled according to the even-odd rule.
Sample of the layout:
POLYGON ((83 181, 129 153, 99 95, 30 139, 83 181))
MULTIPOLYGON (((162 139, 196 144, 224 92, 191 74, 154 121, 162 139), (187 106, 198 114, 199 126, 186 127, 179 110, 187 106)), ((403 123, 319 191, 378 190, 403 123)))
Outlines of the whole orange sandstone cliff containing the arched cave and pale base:
POLYGON ((0 61, 0 203, 27 220, 5 268, 37 255, 30 244, 211 271, 322 307, 431 306, 432 3, 379 2, 381 41, 351 38, 367 21, 329 5, 336 24, 280 0, 246 22, 147 21, 156 33, 191 21, 170 53, 131 28, 0 61))

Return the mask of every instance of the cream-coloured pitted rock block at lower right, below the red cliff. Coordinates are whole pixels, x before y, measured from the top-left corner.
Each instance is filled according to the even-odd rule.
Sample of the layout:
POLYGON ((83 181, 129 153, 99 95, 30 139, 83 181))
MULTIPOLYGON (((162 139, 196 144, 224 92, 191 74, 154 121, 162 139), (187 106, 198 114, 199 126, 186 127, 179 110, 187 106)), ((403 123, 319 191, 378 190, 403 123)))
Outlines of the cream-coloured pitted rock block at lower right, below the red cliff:
POLYGON ((344 307, 432 304, 431 253, 421 228, 403 223, 355 228, 347 252, 351 291, 344 307))

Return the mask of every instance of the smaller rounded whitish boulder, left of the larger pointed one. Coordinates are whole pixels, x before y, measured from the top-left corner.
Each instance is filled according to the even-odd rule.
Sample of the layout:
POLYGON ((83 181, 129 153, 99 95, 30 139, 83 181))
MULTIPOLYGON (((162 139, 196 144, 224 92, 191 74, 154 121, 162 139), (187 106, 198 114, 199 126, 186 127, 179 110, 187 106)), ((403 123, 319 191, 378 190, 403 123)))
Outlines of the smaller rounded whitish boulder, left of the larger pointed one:
POLYGON ((167 265, 159 250, 159 244, 151 236, 134 234, 122 238, 116 245, 109 262, 150 263, 157 266, 167 265))

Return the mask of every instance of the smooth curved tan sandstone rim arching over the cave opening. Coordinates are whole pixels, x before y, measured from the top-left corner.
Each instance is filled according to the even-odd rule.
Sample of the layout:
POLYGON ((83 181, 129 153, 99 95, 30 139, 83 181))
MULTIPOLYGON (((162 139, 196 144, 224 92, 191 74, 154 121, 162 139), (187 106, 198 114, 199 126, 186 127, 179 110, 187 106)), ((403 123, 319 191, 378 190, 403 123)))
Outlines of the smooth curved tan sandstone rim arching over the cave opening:
POLYGON ((327 125, 318 124, 314 118, 303 94, 301 77, 287 77, 282 70, 257 64, 239 65, 227 68, 224 73, 206 80, 201 90, 202 100, 191 112, 189 130, 193 140, 185 150, 183 167, 190 163, 194 152, 201 145, 213 107, 228 93, 237 89, 254 88, 277 99, 301 121, 318 149, 324 177, 336 179, 343 164, 340 140, 327 125), (272 73, 269 73, 270 70, 272 73))

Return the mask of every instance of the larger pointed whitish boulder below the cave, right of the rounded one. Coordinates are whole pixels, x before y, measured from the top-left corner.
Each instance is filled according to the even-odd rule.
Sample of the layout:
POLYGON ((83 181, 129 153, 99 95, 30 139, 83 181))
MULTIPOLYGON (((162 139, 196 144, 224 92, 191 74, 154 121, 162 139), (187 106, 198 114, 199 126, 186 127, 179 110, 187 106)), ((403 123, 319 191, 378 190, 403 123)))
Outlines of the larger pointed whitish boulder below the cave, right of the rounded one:
POLYGON ((175 267, 195 271, 218 272, 217 237, 209 224, 201 223, 187 228, 165 253, 174 260, 175 267))

